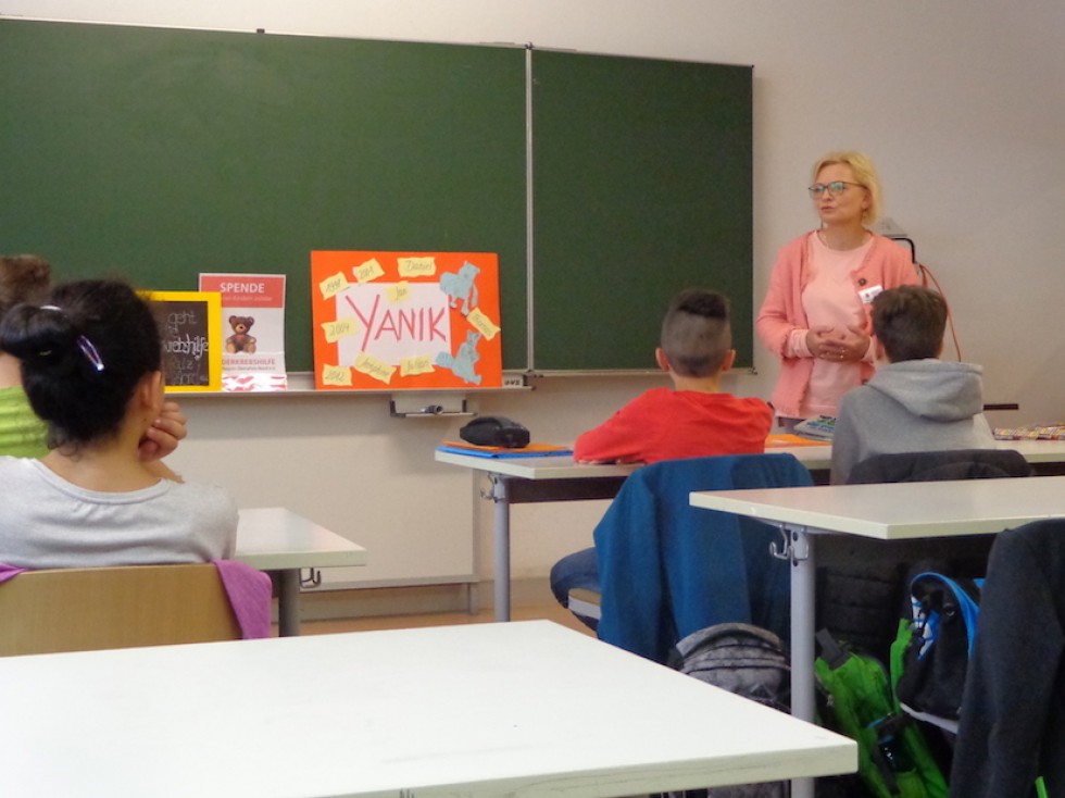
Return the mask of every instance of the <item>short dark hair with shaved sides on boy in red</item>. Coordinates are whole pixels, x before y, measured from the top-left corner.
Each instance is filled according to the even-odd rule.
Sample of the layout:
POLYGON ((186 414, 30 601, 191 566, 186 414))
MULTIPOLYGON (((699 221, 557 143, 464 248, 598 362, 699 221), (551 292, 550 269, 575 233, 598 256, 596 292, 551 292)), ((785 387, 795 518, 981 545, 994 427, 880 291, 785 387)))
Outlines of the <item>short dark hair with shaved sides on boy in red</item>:
POLYGON ((732 348, 728 299, 703 288, 678 294, 662 321, 661 346, 680 376, 716 374, 732 348))

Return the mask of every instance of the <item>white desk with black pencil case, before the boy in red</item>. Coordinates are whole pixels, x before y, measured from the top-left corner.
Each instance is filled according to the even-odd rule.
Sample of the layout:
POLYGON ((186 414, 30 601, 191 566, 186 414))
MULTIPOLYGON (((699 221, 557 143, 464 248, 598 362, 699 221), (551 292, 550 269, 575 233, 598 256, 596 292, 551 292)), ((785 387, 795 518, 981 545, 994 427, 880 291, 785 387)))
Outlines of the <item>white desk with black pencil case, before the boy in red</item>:
POLYGON ((492 536, 497 621, 511 619, 511 504, 613 499, 625 477, 639 467, 578 465, 572 457, 480 458, 449 451, 437 451, 436 460, 484 473, 491 481, 485 498, 496 502, 492 536))

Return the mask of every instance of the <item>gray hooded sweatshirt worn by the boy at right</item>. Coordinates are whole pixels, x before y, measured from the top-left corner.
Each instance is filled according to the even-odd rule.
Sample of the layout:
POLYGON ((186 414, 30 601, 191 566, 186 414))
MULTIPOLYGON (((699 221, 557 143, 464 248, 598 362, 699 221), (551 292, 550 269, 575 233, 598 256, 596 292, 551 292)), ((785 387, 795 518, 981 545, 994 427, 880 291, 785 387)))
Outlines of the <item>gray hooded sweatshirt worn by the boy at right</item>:
POLYGON ((983 417, 983 370, 972 363, 904 360, 880 366, 843 395, 832 435, 832 484, 874 454, 994 449, 983 417))

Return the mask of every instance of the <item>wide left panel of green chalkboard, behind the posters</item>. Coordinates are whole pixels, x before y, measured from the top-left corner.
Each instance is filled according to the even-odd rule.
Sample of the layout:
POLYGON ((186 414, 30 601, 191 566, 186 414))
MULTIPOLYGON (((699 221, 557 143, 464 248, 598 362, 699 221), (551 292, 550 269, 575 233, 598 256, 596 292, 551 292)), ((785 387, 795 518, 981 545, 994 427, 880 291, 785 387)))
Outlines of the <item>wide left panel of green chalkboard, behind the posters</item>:
POLYGON ((160 290, 286 273, 290 371, 311 250, 497 252, 524 366, 525 55, 0 21, 0 251, 160 290))

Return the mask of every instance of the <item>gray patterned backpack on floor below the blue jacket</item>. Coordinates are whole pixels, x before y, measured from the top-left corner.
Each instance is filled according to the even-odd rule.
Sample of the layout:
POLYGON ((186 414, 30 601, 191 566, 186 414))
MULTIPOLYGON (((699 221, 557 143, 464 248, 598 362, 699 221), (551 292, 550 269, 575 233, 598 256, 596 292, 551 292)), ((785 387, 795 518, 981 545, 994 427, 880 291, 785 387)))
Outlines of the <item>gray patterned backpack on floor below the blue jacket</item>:
MULTIPOLYGON (((667 664, 681 673, 788 712, 791 666, 775 634, 747 623, 719 623, 679 640, 667 664)), ((787 782, 668 793, 668 798, 785 798, 787 782)))

